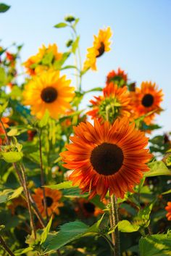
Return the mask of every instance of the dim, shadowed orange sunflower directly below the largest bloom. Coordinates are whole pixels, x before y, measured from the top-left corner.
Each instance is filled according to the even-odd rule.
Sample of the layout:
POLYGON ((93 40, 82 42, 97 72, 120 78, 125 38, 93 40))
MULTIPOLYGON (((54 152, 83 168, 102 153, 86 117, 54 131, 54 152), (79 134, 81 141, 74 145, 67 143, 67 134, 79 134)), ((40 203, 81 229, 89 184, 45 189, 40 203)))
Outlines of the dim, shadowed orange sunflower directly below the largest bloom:
POLYGON ((93 216, 98 216, 101 213, 104 213, 99 207, 96 207, 92 202, 88 199, 79 198, 75 200, 75 212, 77 212, 78 217, 91 218, 93 216))

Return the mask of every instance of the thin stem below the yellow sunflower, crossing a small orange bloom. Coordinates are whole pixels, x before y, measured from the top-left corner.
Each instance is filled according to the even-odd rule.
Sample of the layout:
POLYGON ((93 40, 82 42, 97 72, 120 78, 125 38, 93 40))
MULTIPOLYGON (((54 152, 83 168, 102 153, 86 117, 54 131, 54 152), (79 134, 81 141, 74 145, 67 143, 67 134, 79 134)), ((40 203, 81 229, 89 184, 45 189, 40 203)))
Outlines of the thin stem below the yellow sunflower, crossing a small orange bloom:
POLYGON ((46 193, 45 193, 45 178, 44 178, 44 171, 43 171, 43 160, 42 160, 42 145, 41 145, 41 131, 39 133, 39 154, 40 154, 40 168, 41 168, 41 186, 43 189, 43 206, 46 212, 46 220, 49 221, 49 215, 48 215, 48 209, 47 209, 47 203, 46 203, 46 193))

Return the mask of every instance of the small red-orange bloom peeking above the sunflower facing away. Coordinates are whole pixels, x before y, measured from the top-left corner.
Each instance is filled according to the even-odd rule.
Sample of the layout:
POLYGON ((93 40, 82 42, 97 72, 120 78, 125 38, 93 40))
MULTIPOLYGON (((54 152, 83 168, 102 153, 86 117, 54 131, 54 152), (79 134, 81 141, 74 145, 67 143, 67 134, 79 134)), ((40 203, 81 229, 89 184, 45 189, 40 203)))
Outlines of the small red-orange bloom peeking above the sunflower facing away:
POLYGON ((107 75, 107 86, 109 85, 109 83, 114 83, 122 87, 127 85, 127 81, 127 74, 125 74, 125 72, 121 70, 120 67, 118 68, 117 72, 112 70, 107 75))

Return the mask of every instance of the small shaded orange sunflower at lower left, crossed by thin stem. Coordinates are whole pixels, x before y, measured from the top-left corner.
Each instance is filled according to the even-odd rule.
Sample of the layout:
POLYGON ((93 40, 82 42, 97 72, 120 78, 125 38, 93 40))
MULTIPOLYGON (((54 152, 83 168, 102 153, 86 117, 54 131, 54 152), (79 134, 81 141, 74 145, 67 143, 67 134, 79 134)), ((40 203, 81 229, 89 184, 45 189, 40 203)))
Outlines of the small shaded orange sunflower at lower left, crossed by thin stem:
MULTIPOLYGON (((52 213, 59 215, 59 207, 62 207, 63 202, 59 202, 62 197, 62 192, 57 189, 45 188, 46 194, 46 205, 48 215, 51 216, 52 213)), ((43 205, 43 189, 35 189, 35 194, 33 194, 33 199, 36 202, 38 210, 41 212, 43 217, 46 216, 46 212, 43 205)))

